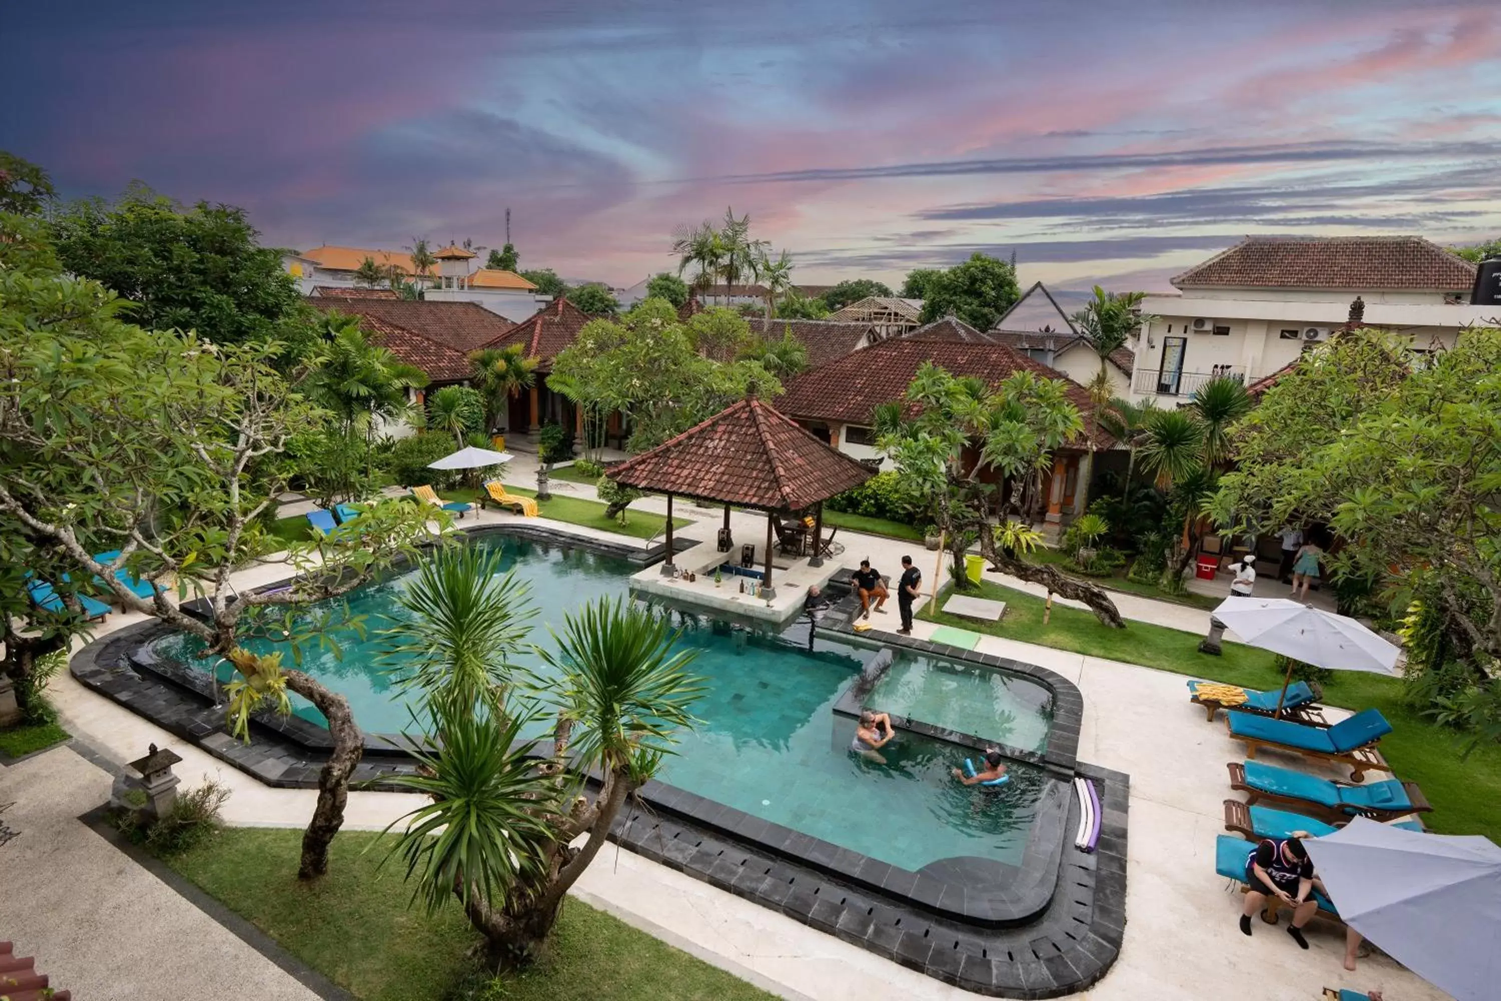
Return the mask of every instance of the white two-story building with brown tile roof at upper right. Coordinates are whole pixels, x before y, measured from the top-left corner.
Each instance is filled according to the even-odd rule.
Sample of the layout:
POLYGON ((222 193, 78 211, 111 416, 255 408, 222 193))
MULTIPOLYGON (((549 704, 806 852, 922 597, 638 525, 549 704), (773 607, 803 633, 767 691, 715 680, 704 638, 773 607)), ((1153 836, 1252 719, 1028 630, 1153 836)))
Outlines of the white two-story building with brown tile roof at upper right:
POLYGON ((1496 306, 1471 306, 1475 266, 1421 237, 1246 237, 1190 267, 1177 296, 1148 296, 1135 335, 1130 398, 1186 402, 1217 375, 1250 384, 1351 318, 1453 347, 1469 326, 1496 326, 1496 306))

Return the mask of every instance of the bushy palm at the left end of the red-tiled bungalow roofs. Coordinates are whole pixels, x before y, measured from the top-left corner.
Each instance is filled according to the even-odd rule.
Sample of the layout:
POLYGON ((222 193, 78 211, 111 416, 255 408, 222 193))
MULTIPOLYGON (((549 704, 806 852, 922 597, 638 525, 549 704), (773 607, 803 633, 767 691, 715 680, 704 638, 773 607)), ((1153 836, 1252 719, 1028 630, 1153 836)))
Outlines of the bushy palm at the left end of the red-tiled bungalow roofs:
POLYGON ((323 344, 303 380, 303 392, 338 416, 344 434, 363 432, 372 438, 381 422, 411 413, 408 390, 428 384, 422 369, 371 344, 359 317, 329 312, 320 326, 323 344))

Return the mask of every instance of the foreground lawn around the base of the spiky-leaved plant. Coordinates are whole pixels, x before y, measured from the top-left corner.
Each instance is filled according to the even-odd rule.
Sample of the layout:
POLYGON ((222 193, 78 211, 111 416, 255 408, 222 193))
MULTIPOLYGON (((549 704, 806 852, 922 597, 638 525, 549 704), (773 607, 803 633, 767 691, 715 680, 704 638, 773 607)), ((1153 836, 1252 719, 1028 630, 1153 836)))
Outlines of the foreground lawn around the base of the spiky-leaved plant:
MULTIPOLYGON (((165 861, 366 1001, 438 1001, 477 975, 477 936, 458 903, 435 917, 407 906, 399 861, 380 867, 378 834, 344 831, 329 875, 297 882, 302 831, 227 828, 165 861), (369 849, 369 851, 366 851, 369 849)), ((594 864, 608 866, 614 848, 594 864)), ((480 996, 480 995, 461 995, 480 996)), ((569 900, 549 956, 485 998, 506 1001, 716 1001, 772 995, 602 911, 569 900)))

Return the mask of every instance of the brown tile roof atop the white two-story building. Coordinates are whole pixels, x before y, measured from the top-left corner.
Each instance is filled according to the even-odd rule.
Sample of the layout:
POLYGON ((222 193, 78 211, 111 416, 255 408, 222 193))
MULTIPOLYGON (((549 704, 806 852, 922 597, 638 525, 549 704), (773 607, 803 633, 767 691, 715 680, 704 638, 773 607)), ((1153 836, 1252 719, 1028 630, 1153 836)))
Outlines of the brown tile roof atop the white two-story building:
POLYGON ((1475 266, 1421 237, 1249 236, 1190 267, 1178 288, 1406 288, 1468 291, 1475 266))

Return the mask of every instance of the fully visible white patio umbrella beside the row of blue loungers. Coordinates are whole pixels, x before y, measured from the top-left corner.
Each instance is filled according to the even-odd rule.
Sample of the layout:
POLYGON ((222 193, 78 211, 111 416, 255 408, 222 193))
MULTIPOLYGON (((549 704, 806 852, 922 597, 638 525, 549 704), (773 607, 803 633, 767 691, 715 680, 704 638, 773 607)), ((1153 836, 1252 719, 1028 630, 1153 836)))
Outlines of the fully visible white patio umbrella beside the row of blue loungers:
MULTIPOLYGON (((1247 645, 1331 671, 1396 674, 1397 654, 1402 653, 1349 615, 1336 615, 1285 597, 1226 597, 1214 609, 1214 618, 1247 645)), ((1289 663, 1277 711, 1282 711, 1282 699, 1288 695, 1291 680, 1289 663)))

